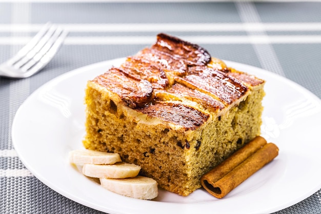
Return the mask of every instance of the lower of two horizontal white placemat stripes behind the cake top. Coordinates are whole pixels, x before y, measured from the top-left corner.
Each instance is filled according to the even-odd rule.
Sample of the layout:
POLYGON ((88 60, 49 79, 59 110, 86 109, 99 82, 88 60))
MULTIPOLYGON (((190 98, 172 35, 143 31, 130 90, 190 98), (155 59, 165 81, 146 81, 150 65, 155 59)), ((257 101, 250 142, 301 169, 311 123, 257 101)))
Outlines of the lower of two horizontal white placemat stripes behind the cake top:
MULTIPOLYGON (((179 36, 197 44, 320 44, 321 35, 179 36)), ((29 36, 0 37, 0 45, 24 45, 29 36)), ((68 36, 65 45, 152 44, 155 36, 68 36)))

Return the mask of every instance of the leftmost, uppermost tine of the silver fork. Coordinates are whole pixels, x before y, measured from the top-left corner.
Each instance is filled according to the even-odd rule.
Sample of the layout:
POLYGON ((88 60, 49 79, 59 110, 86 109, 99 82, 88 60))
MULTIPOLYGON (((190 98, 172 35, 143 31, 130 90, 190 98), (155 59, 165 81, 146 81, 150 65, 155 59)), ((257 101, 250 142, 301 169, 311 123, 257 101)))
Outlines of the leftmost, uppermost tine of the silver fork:
POLYGON ((46 23, 46 25, 28 42, 22 49, 20 49, 11 59, 7 61, 8 65, 13 65, 18 60, 20 60, 23 56, 25 56, 38 42, 41 38, 46 34, 48 29, 50 28, 51 23, 46 23))

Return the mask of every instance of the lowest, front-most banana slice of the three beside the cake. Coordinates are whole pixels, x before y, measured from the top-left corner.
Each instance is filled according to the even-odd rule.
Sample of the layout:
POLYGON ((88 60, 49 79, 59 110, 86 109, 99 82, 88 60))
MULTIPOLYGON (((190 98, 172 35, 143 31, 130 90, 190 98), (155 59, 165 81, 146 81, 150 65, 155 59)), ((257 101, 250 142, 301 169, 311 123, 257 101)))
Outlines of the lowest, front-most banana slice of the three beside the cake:
POLYGON ((101 178, 100 181, 104 188, 135 199, 150 200, 158 195, 157 182, 143 176, 128 179, 101 178))

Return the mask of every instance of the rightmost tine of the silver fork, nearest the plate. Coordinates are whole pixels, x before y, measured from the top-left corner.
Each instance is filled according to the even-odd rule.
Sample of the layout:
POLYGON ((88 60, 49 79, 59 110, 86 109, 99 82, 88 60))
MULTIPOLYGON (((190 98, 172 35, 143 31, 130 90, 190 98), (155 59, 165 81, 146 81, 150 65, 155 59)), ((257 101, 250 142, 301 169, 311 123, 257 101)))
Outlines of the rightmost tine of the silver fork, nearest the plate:
MULTIPOLYGON (((59 48, 62 46, 62 44, 68 34, 68 31, 61 29, 61 31, 59 31, 59 32, 60 33, 55 38, 55 40, 52 41, 53 42, 52 45, 48 45, 46 48, 41 50, 41 54, 37 55, 36 59, 33 59, 32 63, 30 63, 31 66, 28 68, 29 69, 28 76, 33 75, 38 70, 45 67, 51 61, 51 59, 56 54, 56 52, 59 50, 59 48)), ((26 68, 27 68, 27 66, 26 66, 26 68)))

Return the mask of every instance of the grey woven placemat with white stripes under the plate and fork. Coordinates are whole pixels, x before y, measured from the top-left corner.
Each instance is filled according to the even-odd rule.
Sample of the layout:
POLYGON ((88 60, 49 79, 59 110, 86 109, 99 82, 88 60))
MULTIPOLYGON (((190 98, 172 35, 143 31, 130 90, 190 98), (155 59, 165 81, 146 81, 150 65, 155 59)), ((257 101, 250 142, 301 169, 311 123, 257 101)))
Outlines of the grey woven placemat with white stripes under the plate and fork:
MULTIPOLYGON (((41 72, 22 80, 0 77, 0 213, 101 213, 50 189, 17 157, 11 124, 41 85, 85 65, 132 55, 165 32, 220 59, 285 76, 321 98, 320 11, 321 2, 0 2, 0 62, 48 21, 69 30, 41 72)), ((320 194, 275 213, 321 213, 320 194)))

